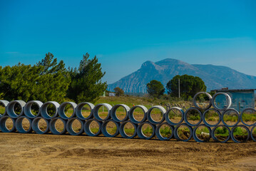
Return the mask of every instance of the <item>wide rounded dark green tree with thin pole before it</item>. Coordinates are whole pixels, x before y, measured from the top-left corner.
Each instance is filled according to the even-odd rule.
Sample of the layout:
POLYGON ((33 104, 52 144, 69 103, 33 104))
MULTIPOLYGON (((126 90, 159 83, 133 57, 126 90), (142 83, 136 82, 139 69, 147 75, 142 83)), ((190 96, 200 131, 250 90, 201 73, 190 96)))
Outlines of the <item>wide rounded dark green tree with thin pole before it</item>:
POLYGON ((197 76, 175 76, 172 80, 170 80, 166 88, 168 90, 168 94, 178 97, 178 79, 180 79, 180 97, 188 99, 189 97, 193 97, 195 93, 200 91, 205 91, 206 86, 203 80, 197 76))

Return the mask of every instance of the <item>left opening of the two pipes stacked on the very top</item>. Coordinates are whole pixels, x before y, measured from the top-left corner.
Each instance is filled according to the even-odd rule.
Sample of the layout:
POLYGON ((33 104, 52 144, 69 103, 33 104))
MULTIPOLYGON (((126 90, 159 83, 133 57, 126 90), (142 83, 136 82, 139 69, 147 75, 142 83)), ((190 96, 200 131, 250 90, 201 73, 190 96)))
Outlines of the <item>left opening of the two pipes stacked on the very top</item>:
POLYGON ((194 95, 193 103, 199 110, 207 110, 212 105, 212 95, 206 92, 199 92, 194 95))

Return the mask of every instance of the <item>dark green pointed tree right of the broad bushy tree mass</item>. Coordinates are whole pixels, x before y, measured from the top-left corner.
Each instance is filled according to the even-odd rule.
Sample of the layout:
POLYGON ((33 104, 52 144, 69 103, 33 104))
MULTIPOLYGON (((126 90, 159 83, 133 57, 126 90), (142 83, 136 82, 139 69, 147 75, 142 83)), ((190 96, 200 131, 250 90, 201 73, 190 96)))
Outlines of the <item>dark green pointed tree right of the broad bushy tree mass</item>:
POLYGON ((103 95, 107 83, 101 82, 105 72, 101 71, 101 63, 96 56, 89 59, 89 54, 83 55, 79 68, 69 68, 71 85, 68 88, 68 98, 78 102, 95 102, 103 95))

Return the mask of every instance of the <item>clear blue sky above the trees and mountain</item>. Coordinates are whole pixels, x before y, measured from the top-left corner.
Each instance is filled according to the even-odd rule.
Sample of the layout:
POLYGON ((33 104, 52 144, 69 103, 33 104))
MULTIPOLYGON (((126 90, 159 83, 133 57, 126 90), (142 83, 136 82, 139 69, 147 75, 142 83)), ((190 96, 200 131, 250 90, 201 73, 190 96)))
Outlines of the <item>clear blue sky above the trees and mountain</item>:
POLYGON ((176 58, 256 76, 256 1, 0 0, 0 65, 97 56, 113 83, 176 58))

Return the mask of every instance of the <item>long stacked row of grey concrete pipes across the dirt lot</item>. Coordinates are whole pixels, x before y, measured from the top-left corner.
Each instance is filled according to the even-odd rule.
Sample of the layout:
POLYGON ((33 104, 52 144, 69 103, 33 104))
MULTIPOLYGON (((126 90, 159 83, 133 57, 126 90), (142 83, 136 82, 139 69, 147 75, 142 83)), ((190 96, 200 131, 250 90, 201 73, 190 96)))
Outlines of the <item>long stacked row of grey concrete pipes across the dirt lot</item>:
POLYGON ((229 106, 227 105, 225 108, 222 108, 222 109, 217 108, 217 106, 214 104, 214 98, 220 94, 226 95, 228 104, 231 103, 231 98, 226 93, 217 93, 212 98, 210 94, 205 92, 200 92, 194 96, 193 101, 194 101, 195 108, 188 108, 188 110, 186 110, 185 112, 183 111, 183 109, 179 107, 173 107, 173 108, 170 108, 168 111, 166 111, 165 108, 163 108, 163 106, 160 106, 160 105, 155 105, 152 108, 148 109, 148 108, 145 108, 145 106, 143 105, 135 105, 133 106, 133 108, 129 108, 128 105, 125 105, 125 104, 118 104, 118 105, 111 106, 108 103, 93 105, 92 103, 83 102, 77 105, 76 103, 73 103, 73 102, 64 102, 64 103, 61 103, 60 105, 55 101, 48 101, 46 103, 42 103, 39 100, 31 100, 28 103, 25 103, 23 100, 13 100, 11 102, 8 102, 7 100, 0 100, 1 105, 4 105, 4 108, 6 109, 5 112, 2 113, 2 115, 0 115, 0 130, 1 132, 4 132, 4 133, 11 133, 17 130, 19 133, 31 133, 32 131, 34 131, 35 133, 38 133, 38 134, 44 134, 51 131, 51 133, 55 135, 61 135, 68 132, 70 135, 81 135, 82 133, 86 133, 86 135, 89 135, 89 136, 98 136, 102 133, 106 137, 116 137, 117 135, 120 134, 121 137, 123 138, 134 138, 136 135, 138 135, 138 138, 142 138, 146 140, 155 137, 155 135, 159 140, 170 140, 171 138, 174 137, 176 140, 188 141, 193 137, 194 140, 198 142, 206 142, 206 141, 209 141, 210 138, 213 138, 213 140, 217 142, 227 142, 227 140, 230 140, 230 138, 232 138, 234 142, 240 142, 240 140, 237 140, 234 137, 235 128, 240 127, 240 128, 244 128, 247 131, 247 138, 245 138, 245 140, 243 141, 249 140, 250 137, 252 138, 252 140, 255 140, 255 137, 253 136, 252 133, 253 133, 253 130, 255 129, 256 123, 252 123, 250 125, 245 123, 242 120, 242 115, 243 113, 246 112, 246 110, 253 110, 255 112, 256 110, 254 108, 247 108, 243 110, 242 113, 240 114, 237 112, 237 110, 230 108, 231 104, 229 106), (198 103, 196 103, 196 98, 200 94, 205 94, 209 98, 209 104, 207 106, 204 105, 204 108, 200 107, 198 103), (36 104, 39 107, 39 113, 37 113, 36 115, 32 114, 31 112, 31 106, 33 104, 36 104), (49 115, 47 112, 48 105, 50 104, 53 105, 55 108, 55 113, 53 115, 49 115), (14 110, 15 105, 20 105, 21 107, 21 111, 19 114, 16 114, 14 110), (66 105, 71 105, 73 108, 73 113, 70 116, 67 116, 65 113, 66 105), (84 105, 88 105, 88 107, 91 108, 91 113, 86 118, 82 114, 84 105), (212 105, 213 105, 213 108, 210 108, 212 105), (107 109, 106 118, 101 118, 99 115, 99 110, 101 107, 104 107, 107 109), (116 114, 116 111, 119 107, 123 107, 126 113, 123 119, 118 118, 116 114), (141 120, 137 120, 133 115, 136 108, 140 108, 144 113, 143 118, 141 120), (153 119, 152 111, 155 108, 157 108, 160 111, 160 113, 162 113, 161 120, 153 119), (175 113, 180 113, 179 122, 173 122, 173 120, 170 119, 169 113, 173 110, 175 110, 175 113), (200 115, 200 119, 198 120, 197 123, 195 122, 192 123, 190 122, 190 120, 188 120, 188 113, 190 113, 192 110, 194 110, 200 115), (205 114, 208 113, 210 110, 214 110, 215 113, 219 115, 219 120, 214 125, 212 125, 211 123, 208 123, 208 121, 205 120, 205 114), (223 116, 225 115, 225 113, 228 113, 230 111, 232 111, 232 113, 235 113, 235 115, 237 115, 238 117, 237 122, 232 125, 229 125, 229 123, 226 123, 225 120, 223 119, 223 116), (11 118, 14 125, 13 128, 11 128, 11 130, 9 130, 6 127, 6 120, 8 118, 11 118), (27 130, 25 130, 22 125, 22 121, 24 120, 24 118, 29 120, 29 123, 30 123, 29 129, 27 130), (39 120, 44 120, 46 122, 45 130, 41 130, 39 128, 39 120), (57 120, 61 120, 61 122, 63 123, 63 130, 61 132, 56 129, 57 120), (72 128, 72 124, 75 120, 78 120, 79 123, 81 123, 81 130, 79 130, 79 132, 74 131, 72 128), (90 129, 90 125, 93 121, 98 123, 99 129, 97 133, 93 133, 90 129), (183 121, 185 121, 185 123, 183 123, 183 121), (203 121, 203 124, 201 124, 202 121, 203 121), (240 121, 243 123, 243 125, 238 125, 240 121), (113 134, 108 133, 106 126, 110 122, 116 125, 116 128, 117 128, 116 133, 113 133, 113 134), (220 125, 220 122, 222 122, 222 125, 220 125), (124 128, 127 123, 130 123, 131 125, 133 125, 133 128, 134 128, 133 135, 126 134, 124 128), (143 125, 145 124, 150 125, 150 127, 153 130, 150 136, 146 136, 143 134, 143 125), (171 134, 168 138, 163 137, 163 135, 161 135, 160 133, 160 128, 163 125, 168 126, 171 130, 170 131, 171 134), (180 136, 178 135, 178 128, 180 128, 180 126, 188 128, 187 130, 190 132, 188 133, 189 135, 188 138, 186 139, 180 138, 180 136), (198 138, 198 136, 196 135, 196 130, 202 126, 208 129, 208 138, 206 138, 206 140, 200 140, 200 138, 198 138), (222 128, 225 127, 228 130, 229 134, 227 138, 225 138, 225 140, 219 140, 215 136, 215 130, 219 127, 222 127, 222 128), (252 127, 252 129, 249 130, 248 127, 252 127), (232 128, 232 130, 230 130, 230 128, 232 128))

